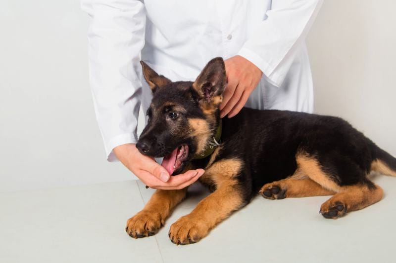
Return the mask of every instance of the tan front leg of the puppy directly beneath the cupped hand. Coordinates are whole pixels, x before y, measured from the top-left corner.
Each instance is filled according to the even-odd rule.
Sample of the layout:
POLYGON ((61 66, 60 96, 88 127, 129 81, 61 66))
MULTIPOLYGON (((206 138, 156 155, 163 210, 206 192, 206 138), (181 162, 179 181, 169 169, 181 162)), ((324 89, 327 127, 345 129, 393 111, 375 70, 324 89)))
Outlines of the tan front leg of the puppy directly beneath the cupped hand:
POLYGON ((125 230, 134 238, 156 234, 173 208, 184 199, 186 193, 187 188, 156 190, 143 210, 127 221, 125 230))

